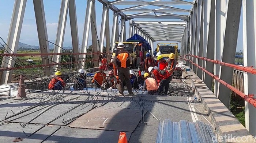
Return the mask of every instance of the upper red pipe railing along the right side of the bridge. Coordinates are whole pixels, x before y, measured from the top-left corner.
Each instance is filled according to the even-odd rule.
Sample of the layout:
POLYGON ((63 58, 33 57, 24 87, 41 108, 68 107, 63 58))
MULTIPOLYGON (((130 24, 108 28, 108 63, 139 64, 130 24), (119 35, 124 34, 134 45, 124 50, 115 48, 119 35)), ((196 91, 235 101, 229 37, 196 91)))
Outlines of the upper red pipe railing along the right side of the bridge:
POLYGON ((234 68, 234 69, 237 69, 237 70, 240 70, 240 71, 249 72, 253 75, 256 75, 256 69, 253 68, 252 66, 251 67, 242 67, 242 66, 235 65, 235 64, 225 63, 225 62, 222 62, 222 61, 219 61, 219 60, 207 59, 205 57, 199 57, 199 56, 195 56, 195 55, 189 55, 189 56, 196 57, 198 59, 202 59, 202 60, 206 60, 206 61, 210 61, 210 62, 215 63, 215 64, 225 65, 227 67, 231 67, 231 68, 234 68))

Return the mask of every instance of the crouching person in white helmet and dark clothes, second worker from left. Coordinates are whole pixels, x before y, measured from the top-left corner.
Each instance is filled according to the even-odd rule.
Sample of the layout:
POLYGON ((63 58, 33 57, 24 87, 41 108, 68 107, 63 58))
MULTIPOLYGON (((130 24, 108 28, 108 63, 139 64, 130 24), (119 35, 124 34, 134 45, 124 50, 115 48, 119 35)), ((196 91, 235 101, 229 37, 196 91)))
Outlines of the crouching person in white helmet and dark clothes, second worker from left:
POLYGON ((86 88, 86 75, 84 75, 84 70, 78 70, 79 76, 76 78, 75 84, 73 86, 74 90, 83 90, 86 88))

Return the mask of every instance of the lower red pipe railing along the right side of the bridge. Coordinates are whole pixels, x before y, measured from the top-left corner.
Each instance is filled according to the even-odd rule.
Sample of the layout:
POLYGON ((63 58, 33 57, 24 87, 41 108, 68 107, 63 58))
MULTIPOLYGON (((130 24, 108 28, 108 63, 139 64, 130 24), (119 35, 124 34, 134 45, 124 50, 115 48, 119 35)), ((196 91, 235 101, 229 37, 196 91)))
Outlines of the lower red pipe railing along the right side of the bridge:
POLYGON ((188 60, 190 61, 190 63, 192 63, 193 65, 196 65, 196 67, 202 69, 204 72, 206 72, 208 75, 210 75, 212 78, 214 78, 215 80, 217 80, 219 83, 223 84, 224 86, 226 86, 227 88, 229 88, 230 90, 234 91, 236 94, 238 94, 239 96, 241 96, 242 98, 244 98, 244 100, 246 100, 248 103, 252 104, 254 107, 256 107, 256 100, 253 98, 253 95, 245 95, 243 92, 241 92, 240 90, 238 90, 237 88, 231 86, 230 84, 226 83, 224 80, 218 78, 218 76, 213 75, 211 72, 207 71, 206 69, 200 67, 198 64, 193 63, 192 60, 188 60))

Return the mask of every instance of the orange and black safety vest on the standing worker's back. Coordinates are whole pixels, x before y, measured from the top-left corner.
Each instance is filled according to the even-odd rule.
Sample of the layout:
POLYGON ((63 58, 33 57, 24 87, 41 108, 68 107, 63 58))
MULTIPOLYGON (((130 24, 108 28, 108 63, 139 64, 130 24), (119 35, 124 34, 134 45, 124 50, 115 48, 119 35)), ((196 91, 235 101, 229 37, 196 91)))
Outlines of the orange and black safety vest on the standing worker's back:
POLYGON ((116 63, 118 65, 118 67, 122 67, 122 68, 128 68, 130 67, 130 61, 129 61, 129 52, 128 51, 118 51, 116 52, 116 63))

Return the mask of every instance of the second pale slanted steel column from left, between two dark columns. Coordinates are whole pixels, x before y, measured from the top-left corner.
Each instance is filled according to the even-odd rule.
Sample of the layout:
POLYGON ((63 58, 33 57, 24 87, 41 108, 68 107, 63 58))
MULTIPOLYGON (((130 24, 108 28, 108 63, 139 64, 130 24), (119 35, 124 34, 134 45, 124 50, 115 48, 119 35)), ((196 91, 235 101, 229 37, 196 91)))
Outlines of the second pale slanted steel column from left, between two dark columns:
MULTIPOLYGON (((62 50, 63 50, 61 47, 63 47, 67 16, 68 16, 68 6, 69 6, 69 0, 61 0, 59 23, 57 28, 56 40, 55 40, 56 45, 54 45, 53 53, 62 53, 62 50)), ((60 63, 61 55, 53 55, 52 61, 54 63, 60 63)), ((55 70, 57 69, 58 69, 58 65, 54 65, 53 73, 55 73, 55 70)))

